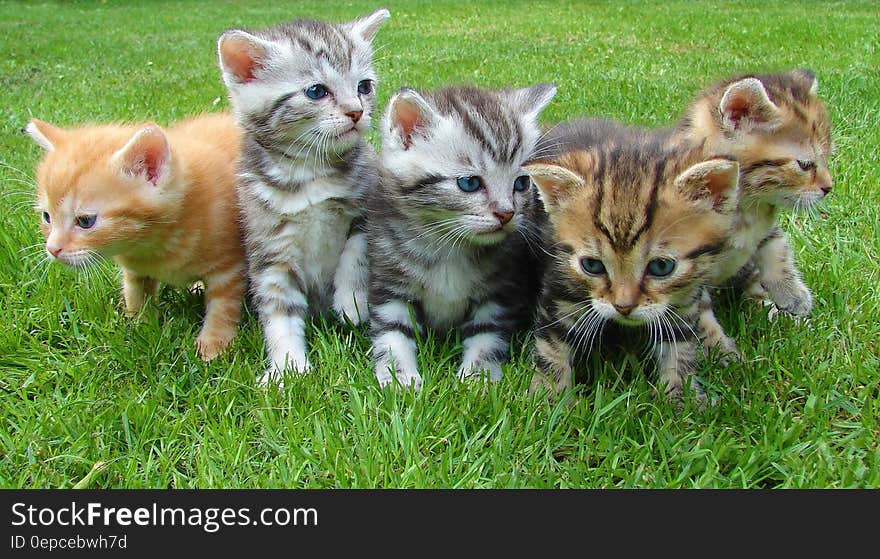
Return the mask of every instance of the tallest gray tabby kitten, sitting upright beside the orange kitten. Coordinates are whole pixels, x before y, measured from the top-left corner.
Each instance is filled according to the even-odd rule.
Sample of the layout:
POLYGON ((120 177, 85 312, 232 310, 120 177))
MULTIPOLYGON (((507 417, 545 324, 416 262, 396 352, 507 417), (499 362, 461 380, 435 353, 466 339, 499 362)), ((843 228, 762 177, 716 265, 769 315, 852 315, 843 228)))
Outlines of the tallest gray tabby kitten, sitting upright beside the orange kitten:
POLYGON ((378 175, 364 133, 376 106, 371 41, 389 15, 233 29, 218 41, 245 133, 238 194, 269 357, 261 384, 309 369, 309 310, 366 318, 363 200, 378 175))

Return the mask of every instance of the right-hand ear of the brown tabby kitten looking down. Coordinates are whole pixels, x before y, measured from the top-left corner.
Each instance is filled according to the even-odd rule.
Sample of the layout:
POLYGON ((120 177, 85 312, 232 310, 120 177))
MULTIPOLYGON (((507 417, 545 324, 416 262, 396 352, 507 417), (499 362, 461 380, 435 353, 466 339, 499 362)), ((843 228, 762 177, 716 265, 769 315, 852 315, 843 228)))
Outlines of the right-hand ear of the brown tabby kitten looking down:
POLYGON ((691 200, 706 201, 715 211, 730 213, 739 199, 739 163, 730 159, 703 161, 676 177, 674 184, 691 200))

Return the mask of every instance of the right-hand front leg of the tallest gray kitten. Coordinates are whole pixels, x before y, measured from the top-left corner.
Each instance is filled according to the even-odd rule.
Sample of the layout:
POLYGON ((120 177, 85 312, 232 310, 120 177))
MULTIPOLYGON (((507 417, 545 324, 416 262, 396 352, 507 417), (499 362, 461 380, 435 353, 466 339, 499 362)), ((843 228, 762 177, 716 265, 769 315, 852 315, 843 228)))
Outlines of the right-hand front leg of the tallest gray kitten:
POLYGON ((333 310, 340 319, 354 325, 367 320, 367 235, 355 231, 342 250, 339 265, 333 277, 333 310))

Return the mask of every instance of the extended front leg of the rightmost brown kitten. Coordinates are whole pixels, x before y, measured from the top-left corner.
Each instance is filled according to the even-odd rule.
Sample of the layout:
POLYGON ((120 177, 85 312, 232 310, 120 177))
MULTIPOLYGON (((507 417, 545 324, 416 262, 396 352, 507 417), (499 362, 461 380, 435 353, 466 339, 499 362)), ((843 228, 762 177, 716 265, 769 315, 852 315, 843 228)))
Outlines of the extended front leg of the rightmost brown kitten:
POLYGON ((761 285, 779 310, 807 316, 813 309, 813 295, 801 280, 794 255, 783 233, 774 228, 755 253, 761 285))

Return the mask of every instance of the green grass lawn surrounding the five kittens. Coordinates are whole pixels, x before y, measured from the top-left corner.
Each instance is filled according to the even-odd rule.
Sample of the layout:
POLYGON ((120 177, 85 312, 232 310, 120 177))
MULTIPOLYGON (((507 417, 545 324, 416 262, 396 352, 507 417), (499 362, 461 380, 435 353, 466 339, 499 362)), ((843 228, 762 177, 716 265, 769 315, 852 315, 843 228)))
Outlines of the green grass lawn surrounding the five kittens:
MULTIPOLYGON (((259 389, 253 317, 204 364, 201 300, 164 290, 121 312, 118 274, 41 262, 35 116, 171 123, 228 107, 215 41, 228 27, 347 20, 382 4, 0 3, 0 486, 880 487, 880 8, 870 2, 392 2, 380 106, 401 85, 559 88, 546 122, 675 119, 710 81, 812 68, 834 123, 835 188, 783 220, 815 294, 810 322, 726 301, 742 363, 702 376, 717 405, 681 413, 650 377, 605 363, 574 406, 526 397, 528 341, 484 393, 452 380, 460 340, 429 337, 417 395, 378 388, 363 329, 318 319, 314 371, 259 389)), ((375 141, 375 135, 372 136, 375 141)))

